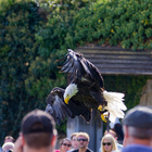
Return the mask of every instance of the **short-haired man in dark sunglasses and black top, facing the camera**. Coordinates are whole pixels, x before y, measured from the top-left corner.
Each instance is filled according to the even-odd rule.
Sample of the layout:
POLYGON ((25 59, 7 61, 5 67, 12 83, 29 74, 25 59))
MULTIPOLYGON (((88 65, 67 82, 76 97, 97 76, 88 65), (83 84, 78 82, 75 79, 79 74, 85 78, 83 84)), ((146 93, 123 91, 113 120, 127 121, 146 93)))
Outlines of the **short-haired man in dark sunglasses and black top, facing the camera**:
POLYGON ((92 152, 88 148, 90 137, 87 132, 78 132, 76 139, 78 141, 78 149, 73 152, 92 152))

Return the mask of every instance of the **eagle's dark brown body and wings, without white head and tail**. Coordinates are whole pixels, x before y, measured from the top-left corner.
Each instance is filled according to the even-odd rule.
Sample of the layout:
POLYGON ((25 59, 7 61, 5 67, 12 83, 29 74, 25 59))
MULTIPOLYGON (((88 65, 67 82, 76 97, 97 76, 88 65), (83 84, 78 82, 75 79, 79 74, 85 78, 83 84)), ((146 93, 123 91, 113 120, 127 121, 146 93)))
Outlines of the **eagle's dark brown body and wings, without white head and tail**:
MULTIPOLYGON (((60 72, 69 76, 71 84, 77 86, 78 92, 69 99, 68 104, 65 104, 63 99, 65 90, 61 90, 62 93, 59 93, 54 89, 55 93, 59 93, 59 98, 53 100, 53 98, 48 97, 47 103, 52 104, 52 111, 55 111, 53 113, 56 113, 55 118, 58 115, 58 121, 64 119, 65 116, 75 117, 80 115, 89 123, 92 109, 98 110, 99 105, 105 106, 107 104, 103 98, 103 78, 99 69, 80 53, 68 49, 68 53, 60 61, 63 60, 66 61, 60 67, 60 72), (52 100, 49 101, 49 99, 52 100)), ((60 89, 58 88, 58 90, 60 89)), ((49 96, 54 96, 53 91, 49 96)))

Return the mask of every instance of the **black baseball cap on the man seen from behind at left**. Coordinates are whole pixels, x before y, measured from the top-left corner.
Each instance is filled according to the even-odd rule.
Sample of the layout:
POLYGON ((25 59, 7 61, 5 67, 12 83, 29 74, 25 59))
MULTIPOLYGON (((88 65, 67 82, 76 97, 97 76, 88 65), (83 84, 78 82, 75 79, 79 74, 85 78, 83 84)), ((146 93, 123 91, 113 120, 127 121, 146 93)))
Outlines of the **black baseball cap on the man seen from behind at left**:
POLYGON ((50 114, 41 110, 34 110, 24 116, 21 132, 23 135, 33 132, 50 132, 56 135, 55 123, 50 114), (35 127, 36 124, 38 124, 37 127, 35 127))

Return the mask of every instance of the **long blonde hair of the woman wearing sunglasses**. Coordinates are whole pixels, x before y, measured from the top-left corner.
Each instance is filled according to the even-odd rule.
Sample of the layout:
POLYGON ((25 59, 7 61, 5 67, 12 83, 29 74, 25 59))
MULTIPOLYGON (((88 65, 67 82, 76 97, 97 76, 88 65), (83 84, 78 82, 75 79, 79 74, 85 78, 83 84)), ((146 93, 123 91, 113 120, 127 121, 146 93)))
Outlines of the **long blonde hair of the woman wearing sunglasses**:
POLYGON ((116 140, 114 139, 114 137, 112 135, 107 134, 107 135, 104 135, 102 140, 101 140, 101 152, 106 152, 104 150, 104 147, 102 145, 104 139, 107 139, 112 143, 112 150, 111 151, 117 150, 116 140))

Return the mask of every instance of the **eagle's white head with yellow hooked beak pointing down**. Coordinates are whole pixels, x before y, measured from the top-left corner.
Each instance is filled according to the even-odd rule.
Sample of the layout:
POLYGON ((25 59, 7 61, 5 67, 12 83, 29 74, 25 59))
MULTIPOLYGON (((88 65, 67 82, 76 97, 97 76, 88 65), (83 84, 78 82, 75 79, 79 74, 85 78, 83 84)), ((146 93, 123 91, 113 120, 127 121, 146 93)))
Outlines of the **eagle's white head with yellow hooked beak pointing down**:
POLYGON ((76 84, 71 84, 64 92, 64 102, 68 104, 68 100, 78 92, 76 84))

